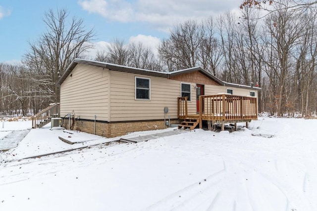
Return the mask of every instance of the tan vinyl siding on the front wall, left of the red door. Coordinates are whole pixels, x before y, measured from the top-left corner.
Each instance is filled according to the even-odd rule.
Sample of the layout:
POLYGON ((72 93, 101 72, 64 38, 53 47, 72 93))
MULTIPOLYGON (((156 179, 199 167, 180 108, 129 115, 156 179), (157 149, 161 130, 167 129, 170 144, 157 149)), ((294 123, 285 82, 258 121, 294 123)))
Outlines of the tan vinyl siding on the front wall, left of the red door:
MULTIPOLYGON (((110 121, 134 121, 164 119, 164 107, 168 107, 168 116, 177 118, 177 97, 180 97, 180 83, 165 78, 111 72, 110 121), (135 99, 135 77, 151 80, 151 100, 135 99)), ((192 84, 192 99, 196 92, 192 84)), ((196 109, 196 100, 188 102, 189 110, 196 109), (194 108, 194 109, 193 109, 194 108)))

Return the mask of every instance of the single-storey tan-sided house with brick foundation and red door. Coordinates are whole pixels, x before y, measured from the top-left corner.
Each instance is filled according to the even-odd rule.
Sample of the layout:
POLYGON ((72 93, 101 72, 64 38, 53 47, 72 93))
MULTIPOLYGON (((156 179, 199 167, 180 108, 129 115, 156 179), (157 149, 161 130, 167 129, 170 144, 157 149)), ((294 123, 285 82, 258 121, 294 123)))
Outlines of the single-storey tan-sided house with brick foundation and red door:
MULTIPOLYGON (((204 120, 214 123, 218 120, 206 115, 212 113, 214 117, 226 118, 229 112, 221 109, 228 110, 230 103, 222 100, 228 99, 233 105, 234 99, 228 98, 231 96, 244 96, 248 98, 247 104, 256 104, 251 106, 252 117, 234 119, 246 117, 241 113, 240 100, 236 112, 230 110, 234 113, 232 121, 251 121, 257 118, 256 96, 260 90, 223 82, 200 67, 167 73, 84 59, 74 59, 57 85, 60 86, 60 117, 72 114, 75 129, 106 137, 162 129, 189 117, 197 117, 200 123, 204 120), (221 96, 224 98, 220 99, 221 96), (218 110, 217 102, 221 102, 216 106, 218 110)), ((69 118, 63 119, 63 127, 69 127, 69 118)))

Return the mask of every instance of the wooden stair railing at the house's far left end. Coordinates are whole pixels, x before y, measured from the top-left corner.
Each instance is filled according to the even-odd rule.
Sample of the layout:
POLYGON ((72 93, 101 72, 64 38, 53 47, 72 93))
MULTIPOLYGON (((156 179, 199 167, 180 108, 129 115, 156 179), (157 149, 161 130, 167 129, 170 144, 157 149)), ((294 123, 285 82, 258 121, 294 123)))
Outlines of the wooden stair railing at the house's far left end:
POLYGON ((55 103, 32 117, 32 128, 38 127, 44 121, 59 116, 59 103, 55 103))

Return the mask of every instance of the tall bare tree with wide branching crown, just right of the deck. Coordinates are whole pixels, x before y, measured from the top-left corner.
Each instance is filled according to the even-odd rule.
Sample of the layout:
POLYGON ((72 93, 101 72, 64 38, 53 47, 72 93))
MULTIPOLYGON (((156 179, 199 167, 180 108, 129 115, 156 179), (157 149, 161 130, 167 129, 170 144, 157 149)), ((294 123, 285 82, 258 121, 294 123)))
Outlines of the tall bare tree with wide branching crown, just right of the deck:
MULTIPOLYGON (((302 15, 288 7, 277 4, 276 11, 265 19, 267 32, 272 36, 274 57, 278 61, 275 76, 278 79, 277 113, 286 112, 288 101, 287 85, 294 74, 295 62, 291 59, 303 32, 302 15)), ((291 87, 291 86, 290 86, 291 87)))

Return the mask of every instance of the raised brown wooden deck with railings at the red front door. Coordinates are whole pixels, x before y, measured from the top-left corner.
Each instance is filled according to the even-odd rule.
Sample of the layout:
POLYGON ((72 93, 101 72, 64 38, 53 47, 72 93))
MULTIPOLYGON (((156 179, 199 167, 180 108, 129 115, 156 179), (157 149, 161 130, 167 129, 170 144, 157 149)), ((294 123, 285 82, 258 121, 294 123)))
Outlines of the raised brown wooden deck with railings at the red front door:
POLYGON ((178 97, 178 119, 197 119, 211 124, 250 122, 258 119, 258 98, 231 94, 202 95, 199 97, 199 113, 189 113, 187 97, 178 97))

